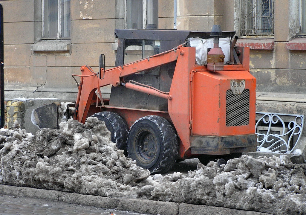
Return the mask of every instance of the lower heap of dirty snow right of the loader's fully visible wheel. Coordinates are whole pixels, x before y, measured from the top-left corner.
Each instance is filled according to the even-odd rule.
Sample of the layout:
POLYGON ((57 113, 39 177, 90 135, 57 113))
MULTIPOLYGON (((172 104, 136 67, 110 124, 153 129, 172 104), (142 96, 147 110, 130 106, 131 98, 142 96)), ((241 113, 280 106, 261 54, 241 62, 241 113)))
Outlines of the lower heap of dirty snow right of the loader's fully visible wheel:
POLYGON ((287 155, 243 155, 218 165, 211 161, 187 176, 166 175, 151 199, 254 210, 272 214, 306 214, 306 166, 287 155))

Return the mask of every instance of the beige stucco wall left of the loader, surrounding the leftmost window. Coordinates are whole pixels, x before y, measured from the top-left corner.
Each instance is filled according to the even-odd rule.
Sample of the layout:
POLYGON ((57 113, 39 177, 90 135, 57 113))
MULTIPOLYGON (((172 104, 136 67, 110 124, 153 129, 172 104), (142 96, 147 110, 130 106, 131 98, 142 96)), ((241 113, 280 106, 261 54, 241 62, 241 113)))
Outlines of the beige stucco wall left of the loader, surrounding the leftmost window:
POLYGON ((73 88, 77 91, 71 74, 80 74, 80 66, 86 64, 98 70, 102 53, 106 56, 106 66, 114 66, 115 52, 111 49, 115 41, 114 28, 123 28, 124 23, 123 15, 116 13, 117 2, 71 1, 69 51, 34 52, 31 45, 39 41, 36 37, 41 35, 40 7, 35 11, 37 1, 0 1, 5 22, 6 87, 24 87, 30 91, 73 88), (35 20, 40 25, 35 26, 35 20))

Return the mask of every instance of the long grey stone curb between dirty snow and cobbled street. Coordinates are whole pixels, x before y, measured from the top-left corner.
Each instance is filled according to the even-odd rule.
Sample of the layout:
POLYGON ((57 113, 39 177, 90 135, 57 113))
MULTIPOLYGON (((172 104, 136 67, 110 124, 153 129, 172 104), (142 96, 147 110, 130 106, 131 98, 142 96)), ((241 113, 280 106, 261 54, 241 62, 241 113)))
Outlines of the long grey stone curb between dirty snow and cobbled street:
POLYGON ((46 199, 101 208, 117 208, 136 213, 151 213, 160 215, 268 215, 255 211, 245 211, 230 208, 192 205, 186 203, 162 202, 133 198, 109 198, 77 193, 67 193, 58 190, 43 190, 31 187, 15 187, 0 184, 0 194, 46 199))

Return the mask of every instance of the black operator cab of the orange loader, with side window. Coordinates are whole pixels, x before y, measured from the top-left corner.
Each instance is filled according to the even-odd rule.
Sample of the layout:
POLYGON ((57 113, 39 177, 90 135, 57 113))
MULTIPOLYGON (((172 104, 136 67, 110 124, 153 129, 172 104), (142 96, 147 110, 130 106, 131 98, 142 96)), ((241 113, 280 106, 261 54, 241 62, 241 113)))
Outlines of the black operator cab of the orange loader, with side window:
MULTIPOLYGON (((235 32, 222 32, 224 38, 233 38, 235 32)), ((116 29, 118 49, 115 66, 156 55, 168 51, 178 45, 188 42, 188 38, 212 38, 211 32, 196 32, 186 30, 162 30, 162 29, 116 29)), ((169 92, 172 83, 176 62, 155 67, 124 78, 150 85, 161 91, 169 92)), ((110 94, 110 106, 128 107, 138 109, 151 109, 167 111, 167 101, 163 98, 131 91, 125 87, 112 87, 110 94)))

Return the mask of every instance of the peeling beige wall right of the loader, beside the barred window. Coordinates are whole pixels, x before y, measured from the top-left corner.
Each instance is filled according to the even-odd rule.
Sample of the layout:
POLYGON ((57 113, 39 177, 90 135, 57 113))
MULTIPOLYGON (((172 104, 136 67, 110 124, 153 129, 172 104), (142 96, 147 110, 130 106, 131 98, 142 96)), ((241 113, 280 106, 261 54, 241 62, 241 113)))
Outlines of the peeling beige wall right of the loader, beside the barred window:
MULTIPOLYGON (((274 2, 274 49, 252 51, 251 72, 259 91, 304 93, 306 89, 306 50, 287 50, 286 43, 298 36, 299 1, 274 2)), ((306 38, 301 38, 306 42, 306 38)))

